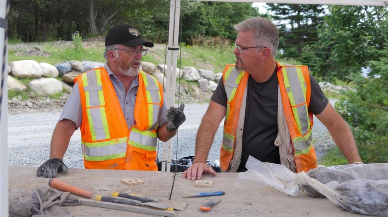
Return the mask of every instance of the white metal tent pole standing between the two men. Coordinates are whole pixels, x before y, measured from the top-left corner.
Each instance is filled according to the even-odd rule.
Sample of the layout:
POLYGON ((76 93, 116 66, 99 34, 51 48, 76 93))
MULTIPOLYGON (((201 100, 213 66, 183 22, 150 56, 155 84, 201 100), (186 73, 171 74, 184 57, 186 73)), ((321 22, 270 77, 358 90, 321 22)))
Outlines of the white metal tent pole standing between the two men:
MULTIPOLYGON (((170 24, 169 24, 169 43, 167 51, 167 69, 166 69, 166 99, 168 108, 174 106, 175 102, 175 80, 177 72, 178 58, 178 35, 179 19, 181 13, 181 0, 170 0, 170 24)), ((171 167, 171 144, 172 140, 163 142, 162 153, 162 171, 170 172, 171 167)))

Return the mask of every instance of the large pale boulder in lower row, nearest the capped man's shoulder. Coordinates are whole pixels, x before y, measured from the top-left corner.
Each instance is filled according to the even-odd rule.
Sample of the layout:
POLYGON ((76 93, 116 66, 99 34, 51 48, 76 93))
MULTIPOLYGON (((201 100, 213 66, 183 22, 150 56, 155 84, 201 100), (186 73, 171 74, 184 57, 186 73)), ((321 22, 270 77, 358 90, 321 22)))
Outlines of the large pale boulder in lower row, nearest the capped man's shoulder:
POLYGON ((62 84, 55 78, 41 78, 32 80, 28 86, 41 96, 49 96, 62 92, 62 84))

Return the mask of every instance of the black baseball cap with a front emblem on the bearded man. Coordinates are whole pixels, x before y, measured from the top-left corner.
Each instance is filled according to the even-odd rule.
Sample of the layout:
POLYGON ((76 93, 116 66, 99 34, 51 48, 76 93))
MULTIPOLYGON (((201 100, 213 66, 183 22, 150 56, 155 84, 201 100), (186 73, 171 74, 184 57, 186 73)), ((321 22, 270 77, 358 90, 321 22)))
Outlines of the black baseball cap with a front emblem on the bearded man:
POLYGON ((108 31, 105 37, 105 46, 112 44, 122 44, 130 47, 138 45, 154 47, 154 43, 143 40, 138 30, 129 24, 118 24, 108 31))

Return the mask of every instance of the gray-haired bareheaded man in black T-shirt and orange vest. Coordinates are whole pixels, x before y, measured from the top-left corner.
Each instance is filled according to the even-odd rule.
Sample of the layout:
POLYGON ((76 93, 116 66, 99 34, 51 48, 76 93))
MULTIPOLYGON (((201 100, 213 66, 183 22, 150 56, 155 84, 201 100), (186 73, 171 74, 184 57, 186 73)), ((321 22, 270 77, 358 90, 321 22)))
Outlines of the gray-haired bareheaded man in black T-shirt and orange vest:
POLYGON ((282 164, 293 172, 317 167, 312 145, 313 114, 328 128, 349 163, 361 158, 347 123, 322 93, 307 66, 275 61, 276 25, 253 17, 236 25, 235 64, 225 67, 196 136, 193 165, 183 178, 200 179, 216 172, 206 164, 221 120, 223 172, 246 171, 248 156, 282 164))

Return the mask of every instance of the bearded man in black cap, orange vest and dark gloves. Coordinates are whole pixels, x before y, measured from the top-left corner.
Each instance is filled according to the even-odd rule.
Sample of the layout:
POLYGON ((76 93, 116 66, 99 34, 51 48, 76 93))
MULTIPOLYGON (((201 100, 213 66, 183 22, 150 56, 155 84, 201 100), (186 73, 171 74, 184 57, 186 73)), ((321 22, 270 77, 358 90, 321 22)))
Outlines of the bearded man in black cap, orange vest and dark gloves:
POLYGON ((143 46, 154 44, 129 24, 108 31, 106 64, 74 79, 52 135, 50 159, 38 168, 37 176, 67 172, 62 159, 78 127, 86 169, 158 170, 157 138, 172 138, 186 117, 183 104, 166 108, 162 85, 141 70, 147 54, 143 46))

